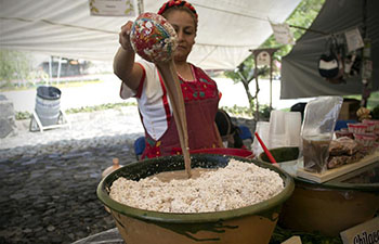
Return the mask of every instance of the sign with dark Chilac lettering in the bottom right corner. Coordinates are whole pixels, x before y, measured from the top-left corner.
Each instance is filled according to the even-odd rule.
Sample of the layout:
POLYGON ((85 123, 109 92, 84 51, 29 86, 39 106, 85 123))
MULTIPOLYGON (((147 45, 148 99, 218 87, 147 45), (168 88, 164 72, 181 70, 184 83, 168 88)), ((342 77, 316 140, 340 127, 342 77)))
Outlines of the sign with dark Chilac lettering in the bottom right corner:
POLYGON ((379 217, 340 233, 343 244, 379 244, 379 217))

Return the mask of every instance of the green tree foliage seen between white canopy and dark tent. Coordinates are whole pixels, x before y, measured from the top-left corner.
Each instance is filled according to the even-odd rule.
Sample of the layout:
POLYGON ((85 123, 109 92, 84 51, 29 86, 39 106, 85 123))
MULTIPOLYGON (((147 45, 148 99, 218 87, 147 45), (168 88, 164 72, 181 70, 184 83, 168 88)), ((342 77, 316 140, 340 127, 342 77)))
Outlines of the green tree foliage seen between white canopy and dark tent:
MULTIPOLYGON (((325 0, 302 0, 292 14, 287 18, 288 23, 292 27, 293 38, 299 39, 305 29, 311 26, 313 20, 317 16, 319 10, 322 9, 325 0)), ((274 35, 272 35, 263 44, 259 47, 263 48, 279 48, 275 54, 274 60, 280 61, 282 56, 285 56, 292 48, 290 44, 279 44, 276 42, 274 35)), ((258 76, 266 75, 269 73, 267 67, 259 68, 257 72, 258 76)), ((254 76, 254 60, 252 55, 249 55, 241 64, 237 66, 234 70, 226 70, 224 75, 231 78, 235 84, 243 82, 246 95, 249 100, 250 112, 253 111, 254 103, 258 102, 259 86, 256 84, 256 95, 252 95, 249 89, 250 81, 254 76)), ((256 111, 256 113, 259 113, 256 111)), ((257 116, 256 116, 257 117, 257 116)))

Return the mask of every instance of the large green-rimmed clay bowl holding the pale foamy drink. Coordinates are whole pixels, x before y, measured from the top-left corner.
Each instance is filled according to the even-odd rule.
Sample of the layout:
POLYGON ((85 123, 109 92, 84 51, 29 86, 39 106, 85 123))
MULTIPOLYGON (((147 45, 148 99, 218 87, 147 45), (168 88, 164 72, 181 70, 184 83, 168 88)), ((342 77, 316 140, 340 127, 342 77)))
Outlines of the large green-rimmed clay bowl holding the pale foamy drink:
MULTIPOLYGON (((192 155, 192 167, 225 167, 231 157, 214 154, 192 155)), ((236 158, 278 172, 285 182, 285 189, 278 195, 259 204, 201 214, 143 210, 109 197, 109 187, 119 177, 138 180, 161 171, 183 170, 183 157, 172 156, 132 163, 114 171, 100 182, 97 196, 110 209, 116 226, 128 244, 266 244, 275 229, 283 203, 293 191, 293 181, 282 169, 271 165, 236 158)))

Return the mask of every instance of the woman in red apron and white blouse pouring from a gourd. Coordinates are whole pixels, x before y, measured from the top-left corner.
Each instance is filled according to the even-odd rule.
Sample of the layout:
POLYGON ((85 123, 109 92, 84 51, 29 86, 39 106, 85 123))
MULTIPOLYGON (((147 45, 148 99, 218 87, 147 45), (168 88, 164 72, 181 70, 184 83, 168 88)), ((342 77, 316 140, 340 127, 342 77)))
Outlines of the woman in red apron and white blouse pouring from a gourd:
MULTIPOLYGON (((217 84, 206 73, 187 62, 195 43, 197 13, 186 1, 170 0, 158 14, 173 26, 178 34, 178 48, 173 61, 183 92, 190 150, 221 147, 222 141, 214 124, 219 104, 217 84)), ((154 63, 140 59, 130 44, 132 22, 121 27, 119 48, 115 60, 115 74, 122 80, 122 99, 135 97, 145 129, 146 146, 143 157, 167 156, 181 153, 177 124, 162 79, 154 63)))

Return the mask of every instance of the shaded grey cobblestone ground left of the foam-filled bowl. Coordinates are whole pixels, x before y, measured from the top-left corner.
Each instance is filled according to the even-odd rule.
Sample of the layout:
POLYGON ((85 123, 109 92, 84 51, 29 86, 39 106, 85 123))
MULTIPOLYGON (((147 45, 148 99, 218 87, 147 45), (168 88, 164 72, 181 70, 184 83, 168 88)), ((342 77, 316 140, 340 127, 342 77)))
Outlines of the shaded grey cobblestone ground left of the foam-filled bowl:
POLYGON ((66 244, 115 228, 96 196, 114 157, 135 160, 125 144, 0 159, 0 243, 66 244))

